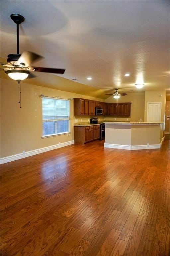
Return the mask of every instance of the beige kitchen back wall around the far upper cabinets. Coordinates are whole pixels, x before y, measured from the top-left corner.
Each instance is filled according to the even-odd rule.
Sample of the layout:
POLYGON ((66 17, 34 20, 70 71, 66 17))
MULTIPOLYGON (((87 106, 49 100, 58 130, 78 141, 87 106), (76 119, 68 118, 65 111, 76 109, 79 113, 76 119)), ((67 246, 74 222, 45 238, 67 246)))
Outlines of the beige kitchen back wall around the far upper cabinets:
MULTIPOLYGON (((116 99, 113 96, 107 98, 105 102, 113 102, 116 103, 116 99)), ((128 117, 128 121, 130 122, 144 122, 144 104, 145 104, 145 93, 128 93, 126 96, 121 96, 118 99, 118 102, 131 102, 131 114, 128 117)), ((112 121, 127 121, 127 118, 117 118, 117 117, 110 117, 106 116, 105 120, 112 121)))

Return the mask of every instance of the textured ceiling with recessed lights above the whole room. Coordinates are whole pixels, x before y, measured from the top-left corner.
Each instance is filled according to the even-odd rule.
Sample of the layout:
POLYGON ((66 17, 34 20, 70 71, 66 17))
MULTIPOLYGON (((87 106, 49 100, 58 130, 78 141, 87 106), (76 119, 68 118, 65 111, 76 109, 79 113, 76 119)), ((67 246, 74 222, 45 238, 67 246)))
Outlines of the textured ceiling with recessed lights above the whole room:
POLYGON ((44 56, 37 66, 66 68, 60 77, 36 73, 29 83, 100 98, 116 87, 139 92, 139 82, 142 91, 170 88, 170 1, 1 0, 5 59, 16 53, 12 13, 25 17, 20 52, 44 56))

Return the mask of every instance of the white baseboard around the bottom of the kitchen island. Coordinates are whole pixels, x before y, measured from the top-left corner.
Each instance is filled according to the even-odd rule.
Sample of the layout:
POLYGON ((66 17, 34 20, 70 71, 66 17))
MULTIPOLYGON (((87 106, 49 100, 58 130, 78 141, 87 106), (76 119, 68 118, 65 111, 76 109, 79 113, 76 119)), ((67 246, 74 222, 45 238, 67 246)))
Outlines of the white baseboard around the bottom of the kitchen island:
POLYGON ((131 145, 119 145, 119 144, 110 144, 110 143, 104 143, 105 148, 117 148, 117 149, 127 149, 127 150, 139 150, 139 149, 158 149, 161 147, 160 144, 155 144, 155 145, 136 145, 136 146, 131 146, 131 145))

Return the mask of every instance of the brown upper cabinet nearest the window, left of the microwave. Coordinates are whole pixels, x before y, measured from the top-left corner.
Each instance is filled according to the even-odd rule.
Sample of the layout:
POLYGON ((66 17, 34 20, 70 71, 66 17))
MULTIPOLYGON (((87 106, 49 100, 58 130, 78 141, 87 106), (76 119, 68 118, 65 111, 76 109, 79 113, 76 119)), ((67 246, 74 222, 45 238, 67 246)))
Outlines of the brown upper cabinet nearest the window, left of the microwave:
POLYGON ((88 115, 88 100, 74 99, 74 115, 88 115))

